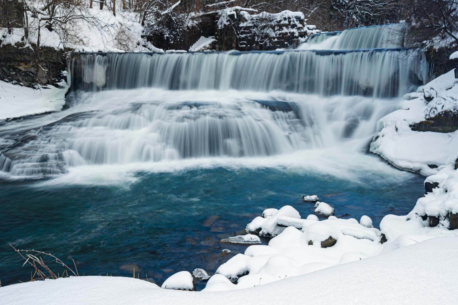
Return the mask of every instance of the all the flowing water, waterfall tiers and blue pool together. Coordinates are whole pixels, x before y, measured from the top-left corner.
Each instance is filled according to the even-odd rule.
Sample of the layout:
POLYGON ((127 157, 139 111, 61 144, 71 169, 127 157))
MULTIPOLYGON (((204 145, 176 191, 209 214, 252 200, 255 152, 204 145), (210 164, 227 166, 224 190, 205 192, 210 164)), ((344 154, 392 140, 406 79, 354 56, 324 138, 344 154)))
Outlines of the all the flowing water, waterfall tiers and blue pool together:
POLYGON ((0 125, 2 284, 29 276, 10 243, 160 284, 214 272, 244 249, 219 238, 265 208, 313 213, 303 194, 375 225, 406 214, 422 178, 367 153, 377 121, 428 80, 401 27, 292 51, 73 54, 68 109, 0 125))

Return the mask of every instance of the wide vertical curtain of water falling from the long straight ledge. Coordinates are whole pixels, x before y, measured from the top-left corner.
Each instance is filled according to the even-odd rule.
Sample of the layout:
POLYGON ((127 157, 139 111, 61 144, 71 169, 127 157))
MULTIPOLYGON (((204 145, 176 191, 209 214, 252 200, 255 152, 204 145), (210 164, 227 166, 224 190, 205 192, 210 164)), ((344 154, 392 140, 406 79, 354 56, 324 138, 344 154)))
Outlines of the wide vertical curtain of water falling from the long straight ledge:
POLYGON ((72 89, 290 91, 402 96, 425 81, 415 50, 74 54, 72 89))

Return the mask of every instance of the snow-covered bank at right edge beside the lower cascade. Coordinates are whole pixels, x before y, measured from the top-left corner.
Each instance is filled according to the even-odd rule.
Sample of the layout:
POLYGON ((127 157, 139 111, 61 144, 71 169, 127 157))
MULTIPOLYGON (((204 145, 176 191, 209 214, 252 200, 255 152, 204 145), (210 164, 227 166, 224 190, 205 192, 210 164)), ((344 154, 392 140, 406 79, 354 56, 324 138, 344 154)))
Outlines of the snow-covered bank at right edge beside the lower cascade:
POLYGON ((450 133, 413 131, 410 124, 425 121, 445 111, 457 111, 457 80, 453 70, 432 80, 411 99, 399 104, 399 109, 380 119, 371 151, 381 155, 393 166, 430 176, 437 169, 428 165, 446 165, 458 151, 458 131, 450 133), (423 93, 424 92, 424 93, 423 93), (427 102, 424 96, 431 96, 427 102))

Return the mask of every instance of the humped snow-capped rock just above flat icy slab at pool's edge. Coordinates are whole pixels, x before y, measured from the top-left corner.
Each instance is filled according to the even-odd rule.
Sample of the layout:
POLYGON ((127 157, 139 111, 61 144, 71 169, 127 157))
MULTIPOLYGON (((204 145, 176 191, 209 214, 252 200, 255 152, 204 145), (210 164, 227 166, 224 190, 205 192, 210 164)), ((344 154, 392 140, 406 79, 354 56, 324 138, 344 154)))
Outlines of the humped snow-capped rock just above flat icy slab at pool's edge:
POLYGON ((261 216, 256 217, 246 225, 246 231, 248 233, 256 233, 260 236, 273 237, 280 234, 284 228, 277 225, 277 219, 280 216, 288 216, 292 218, 300 218, 299 212, 290 205, 285 205, 279 209, 275 214, 269 218, 263 218, 261 216))

